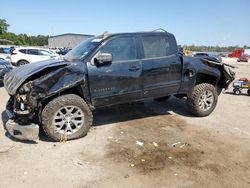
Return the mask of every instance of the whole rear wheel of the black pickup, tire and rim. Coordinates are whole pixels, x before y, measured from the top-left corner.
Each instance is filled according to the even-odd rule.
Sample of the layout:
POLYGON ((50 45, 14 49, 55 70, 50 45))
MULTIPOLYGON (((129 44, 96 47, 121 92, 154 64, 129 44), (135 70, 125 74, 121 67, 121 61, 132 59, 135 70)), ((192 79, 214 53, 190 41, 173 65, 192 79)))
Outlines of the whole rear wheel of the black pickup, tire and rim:
POLYGON ((196 85, 188 95, 190 111, 199 117, 208 116, 216 107, 218 93, 216 88, 207 83, 196 85))

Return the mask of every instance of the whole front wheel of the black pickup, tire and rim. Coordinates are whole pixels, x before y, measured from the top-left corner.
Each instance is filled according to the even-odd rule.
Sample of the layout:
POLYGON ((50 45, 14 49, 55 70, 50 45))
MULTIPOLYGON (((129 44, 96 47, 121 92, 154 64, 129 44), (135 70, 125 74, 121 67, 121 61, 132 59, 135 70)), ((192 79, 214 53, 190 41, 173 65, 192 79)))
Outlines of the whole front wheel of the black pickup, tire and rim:
POLYGON ((87 134, 92 112, 79 96, 68 94, 50 101, 42 111, 42 126, 54 141, 72 140, 87 134))

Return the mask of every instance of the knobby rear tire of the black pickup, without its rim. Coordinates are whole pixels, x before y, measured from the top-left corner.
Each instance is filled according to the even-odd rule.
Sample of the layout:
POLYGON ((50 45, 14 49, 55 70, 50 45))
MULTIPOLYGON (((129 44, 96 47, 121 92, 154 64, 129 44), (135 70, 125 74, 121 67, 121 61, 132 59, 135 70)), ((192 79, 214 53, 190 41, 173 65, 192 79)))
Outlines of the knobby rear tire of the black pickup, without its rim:
POLYGON ((188 94, 188 106, 192 114, 198 117, 204 117, 211 114, 216 107, 218 101, 218 93, 216 88, 208 83, 198 84, 188 94), (210 91, 213 95, 213 103, 208 110, 202 110, 199 106, 199 99, 205 91, 210 91))

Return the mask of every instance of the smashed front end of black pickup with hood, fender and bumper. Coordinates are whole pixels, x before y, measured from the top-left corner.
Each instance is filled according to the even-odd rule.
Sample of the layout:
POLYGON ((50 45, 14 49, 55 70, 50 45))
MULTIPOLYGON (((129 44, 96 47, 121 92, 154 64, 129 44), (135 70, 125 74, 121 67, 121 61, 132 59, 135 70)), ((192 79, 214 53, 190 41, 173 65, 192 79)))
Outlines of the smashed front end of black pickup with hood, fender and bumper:
POLYGON ((7 131, 20 140, 39 138, 44 101, 85 83, 83 63, 39 62, 17 68, 4 79, 10 95, 6 106, 7 131))

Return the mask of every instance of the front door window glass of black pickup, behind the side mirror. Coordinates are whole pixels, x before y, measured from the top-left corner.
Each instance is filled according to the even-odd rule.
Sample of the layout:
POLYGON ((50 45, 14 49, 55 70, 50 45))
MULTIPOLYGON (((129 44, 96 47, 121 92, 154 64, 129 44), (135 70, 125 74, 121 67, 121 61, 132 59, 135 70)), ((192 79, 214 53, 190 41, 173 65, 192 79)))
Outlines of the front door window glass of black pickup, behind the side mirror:
POLYGON ((111 40, 101 49, 101 53, 111 53, 113 61, 136 59, 135 41, 133 37, 121 37, 111 40))

